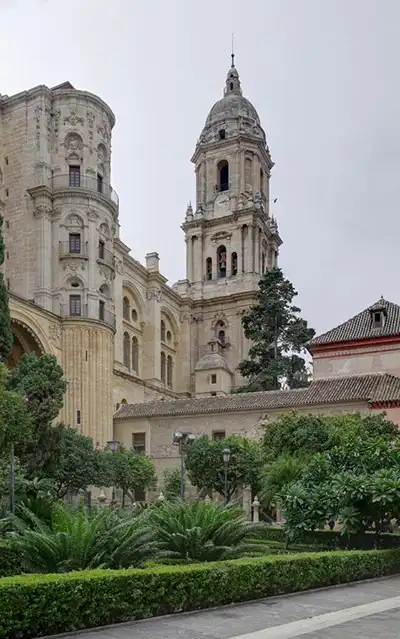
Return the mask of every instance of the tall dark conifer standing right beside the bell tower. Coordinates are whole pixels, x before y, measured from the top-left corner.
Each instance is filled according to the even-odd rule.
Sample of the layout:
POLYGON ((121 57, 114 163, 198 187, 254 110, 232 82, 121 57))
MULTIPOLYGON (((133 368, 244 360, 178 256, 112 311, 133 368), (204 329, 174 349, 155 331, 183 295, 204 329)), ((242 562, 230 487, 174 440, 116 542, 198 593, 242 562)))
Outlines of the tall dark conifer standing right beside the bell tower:
POLYGON ((239 364, 247 379, 243 391, 276 390, 285 382, 290 388, 309 384, 302 355, 315 331, 299 317, 293 305, 296 290, 281 269, 266 271, 259 282, 255 303, 243 317, 244 334, 251 340, 248 359, 239 364))

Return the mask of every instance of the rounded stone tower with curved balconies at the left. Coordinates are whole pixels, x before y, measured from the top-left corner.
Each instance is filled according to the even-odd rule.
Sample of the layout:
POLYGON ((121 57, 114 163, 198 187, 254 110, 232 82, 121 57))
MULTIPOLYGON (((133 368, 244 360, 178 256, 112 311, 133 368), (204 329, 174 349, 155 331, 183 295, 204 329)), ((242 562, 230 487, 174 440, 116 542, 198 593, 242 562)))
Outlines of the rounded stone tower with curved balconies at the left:
POLYGON ((7 285, 52 322, 68 380, 62 418, 100 444, 113 414, 114 123, 105 102, 69 82, 0 96, 7 285))

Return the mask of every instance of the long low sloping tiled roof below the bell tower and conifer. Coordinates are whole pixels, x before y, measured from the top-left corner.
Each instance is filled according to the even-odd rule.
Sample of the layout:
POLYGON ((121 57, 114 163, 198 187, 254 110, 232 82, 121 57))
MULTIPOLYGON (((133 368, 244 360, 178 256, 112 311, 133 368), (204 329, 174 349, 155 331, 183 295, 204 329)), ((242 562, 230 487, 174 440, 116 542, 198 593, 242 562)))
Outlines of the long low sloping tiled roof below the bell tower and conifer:
POLYGON ((320 379, 308 388, 296 390, 238 393, 225 397, 177 399, 146 404, 123 404, 116 419, 129 417, 161 417, 247 411, 257 409, 296 408, 344 402, 400 401, 400 377, 376 373, 320 379))

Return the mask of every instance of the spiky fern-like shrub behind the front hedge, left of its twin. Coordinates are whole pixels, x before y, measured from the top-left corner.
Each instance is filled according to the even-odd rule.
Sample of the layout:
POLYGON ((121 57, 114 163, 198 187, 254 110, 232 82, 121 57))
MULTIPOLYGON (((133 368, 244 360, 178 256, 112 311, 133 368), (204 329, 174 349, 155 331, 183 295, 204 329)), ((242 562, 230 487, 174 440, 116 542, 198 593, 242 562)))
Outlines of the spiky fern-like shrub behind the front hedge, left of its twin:
POLYGON ((12 545, 29 572, 140 567, 156 552, 153 533, 143 520, 113 509, 91 514, 83 506, 74 512, 56 504, 51 527, 26 509, 21 532, 12 545))

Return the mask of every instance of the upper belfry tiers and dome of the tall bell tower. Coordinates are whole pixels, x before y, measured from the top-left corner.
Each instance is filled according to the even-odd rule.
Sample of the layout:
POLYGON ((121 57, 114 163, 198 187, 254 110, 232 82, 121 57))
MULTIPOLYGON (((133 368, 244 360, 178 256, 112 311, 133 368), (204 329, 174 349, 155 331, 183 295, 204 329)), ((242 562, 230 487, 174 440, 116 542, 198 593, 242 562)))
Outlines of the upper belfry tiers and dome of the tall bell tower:
POLYGON ((282 243, 270 214, 273 162, 256 109, 243 96, 234 64, 192 157, 196 206, 189 205, 187 273, 194 299, 255 291, 277 263, 282 243))

